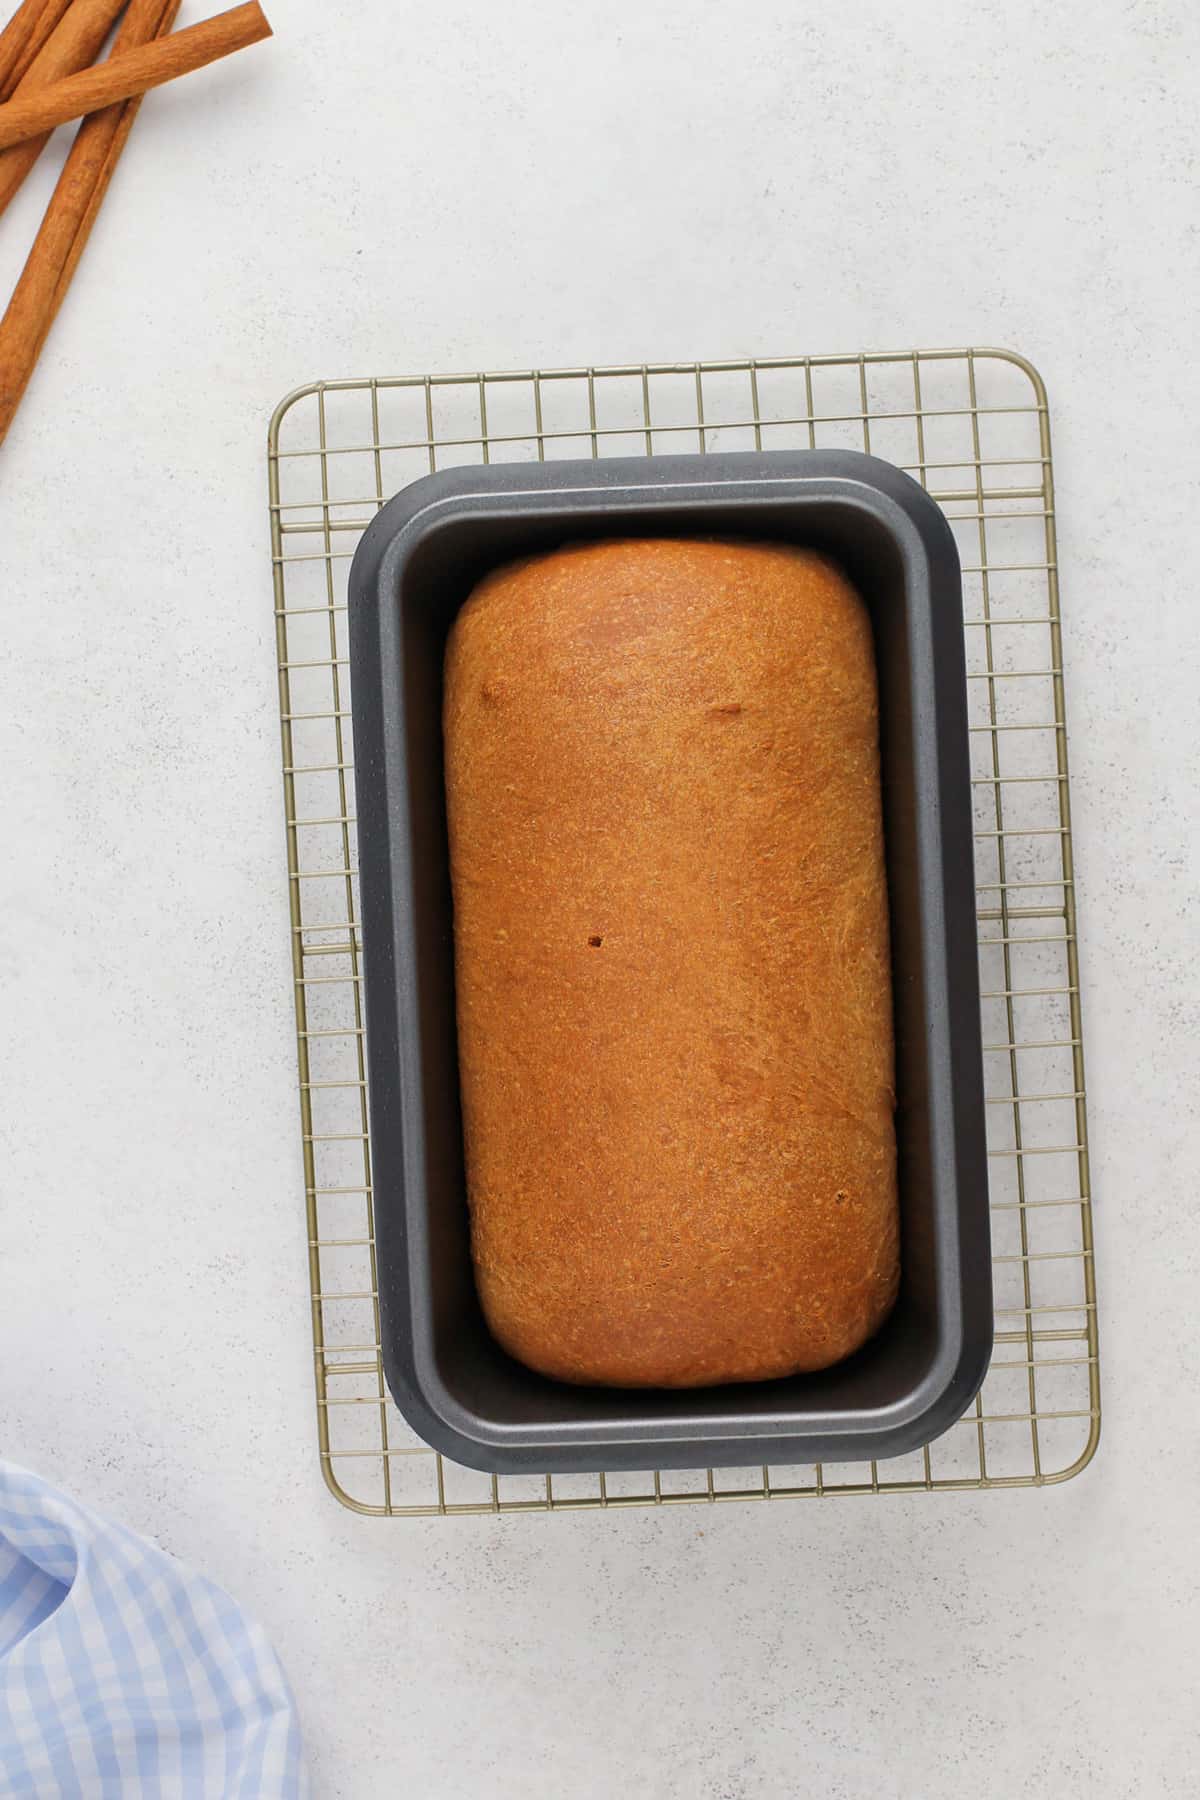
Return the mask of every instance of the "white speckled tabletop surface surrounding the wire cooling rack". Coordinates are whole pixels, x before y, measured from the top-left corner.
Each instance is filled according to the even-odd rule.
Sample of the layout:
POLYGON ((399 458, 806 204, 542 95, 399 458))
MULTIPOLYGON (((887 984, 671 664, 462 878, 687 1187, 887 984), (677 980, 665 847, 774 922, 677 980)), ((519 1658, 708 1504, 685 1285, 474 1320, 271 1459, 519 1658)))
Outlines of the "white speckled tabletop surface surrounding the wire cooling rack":
POLYGON ((320 1795, 1195 1793, 1200 16, 273 22, 148 99, 0 454, 5 1449, 261 1615, 320 1795), (1097 1462, 1040 1494, 340 1510, 313 1454, 270 409, 338 373, 961 342, 1024 349, 1052 403, 1097 1462))

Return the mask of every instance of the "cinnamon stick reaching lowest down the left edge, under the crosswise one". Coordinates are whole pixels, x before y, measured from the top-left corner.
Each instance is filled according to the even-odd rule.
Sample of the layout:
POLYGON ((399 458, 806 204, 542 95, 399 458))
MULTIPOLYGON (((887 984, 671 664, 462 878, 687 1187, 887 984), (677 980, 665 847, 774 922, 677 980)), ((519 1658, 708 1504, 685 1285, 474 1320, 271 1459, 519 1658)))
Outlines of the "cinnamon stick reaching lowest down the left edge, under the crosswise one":
MULTIPOLYGON (((130 0, 112 54, 121 56, 167 32, 178 9, 180 0, 130 0)), ((70 286, 139 106, 140 97, 108 106, 85 119, 76 133, 29 261, 0 319, 0 441, 70 286)))

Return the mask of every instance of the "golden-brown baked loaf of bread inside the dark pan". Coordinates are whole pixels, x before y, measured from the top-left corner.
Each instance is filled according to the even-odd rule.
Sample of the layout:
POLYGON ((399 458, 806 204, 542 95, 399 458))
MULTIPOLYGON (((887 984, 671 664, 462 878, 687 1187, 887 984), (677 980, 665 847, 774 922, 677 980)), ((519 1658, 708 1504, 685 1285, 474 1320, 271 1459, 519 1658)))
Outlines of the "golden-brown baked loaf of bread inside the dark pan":
POLYGON ((772 544, 511 563, 453 626, 444 743, 491 1332, 606 1386, 849 1355, 898 1283, 860 598, 772 544))

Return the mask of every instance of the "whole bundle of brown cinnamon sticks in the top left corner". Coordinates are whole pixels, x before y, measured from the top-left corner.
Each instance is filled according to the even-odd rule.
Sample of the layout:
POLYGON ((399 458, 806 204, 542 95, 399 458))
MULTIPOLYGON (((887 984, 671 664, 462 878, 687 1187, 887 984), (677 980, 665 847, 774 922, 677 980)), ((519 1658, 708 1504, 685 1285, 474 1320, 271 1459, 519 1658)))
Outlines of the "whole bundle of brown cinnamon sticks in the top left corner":
POLYGON ((54 128, 83 119, 0 319, 0 443, 70 286, 142 94, 270 38, 257 0, 173 31, 178 9, 180 0, 22 0, 0 31, 0 212, 54 128), (95 63, 119 18, 108 58, 95 63))

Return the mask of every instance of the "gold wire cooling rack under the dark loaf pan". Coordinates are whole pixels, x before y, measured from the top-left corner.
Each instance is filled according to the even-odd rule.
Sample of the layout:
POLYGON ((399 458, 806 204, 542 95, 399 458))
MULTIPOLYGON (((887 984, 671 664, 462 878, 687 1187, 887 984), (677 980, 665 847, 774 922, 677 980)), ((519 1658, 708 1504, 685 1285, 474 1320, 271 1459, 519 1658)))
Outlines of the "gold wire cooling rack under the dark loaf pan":
POLYGON ((317 382, 268 443, 317 1436, 356 1512, 473 1514, 1042 1487, 1099 1438, 1079 965, 1045 389, 999 349, 317 382), (885 1463, 488 1476, 425 1445, 380 1359, 345 578, 376 509, 455 463, 840 446, 909 470, 963 558, 995 1352, 885 1463))

